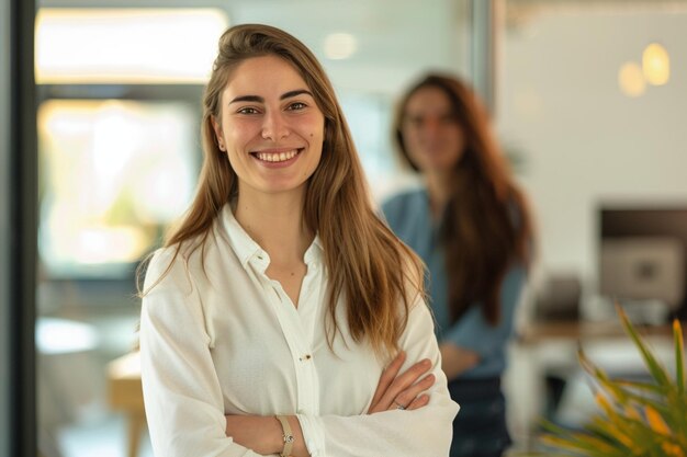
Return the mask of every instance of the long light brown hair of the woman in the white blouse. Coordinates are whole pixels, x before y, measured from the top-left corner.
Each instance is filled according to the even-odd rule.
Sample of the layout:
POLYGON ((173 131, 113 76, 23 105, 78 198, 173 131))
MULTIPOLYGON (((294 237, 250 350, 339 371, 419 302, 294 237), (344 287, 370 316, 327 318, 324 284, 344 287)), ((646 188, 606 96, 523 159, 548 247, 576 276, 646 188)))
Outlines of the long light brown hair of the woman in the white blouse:
POLYGON ((219 210, 237 195, 236 173, 226 152, 219 150, 212 122, 213 117, 221 118, 221 95, 236 67, 266 55, 277 55, 296 69, 325 116, 322 159, 306 185, 303 219, 318 233, 324 247, 329 277, 329 343, 339 330, 335 311, 342 296, 353 340, 368 339, 378 353, 393 353, 407 323, 410 300, 424 294, 421 261, 372 208, 351 135, 322 66, 305 45, 279 28, 244 24, 230 27, 219 38, 219 52, 204 93, 204 159, 198 192, 165 245, 176 247, 176 255, 187 242, 191 243, 191 252, 199 247, 203 252, 219 210))

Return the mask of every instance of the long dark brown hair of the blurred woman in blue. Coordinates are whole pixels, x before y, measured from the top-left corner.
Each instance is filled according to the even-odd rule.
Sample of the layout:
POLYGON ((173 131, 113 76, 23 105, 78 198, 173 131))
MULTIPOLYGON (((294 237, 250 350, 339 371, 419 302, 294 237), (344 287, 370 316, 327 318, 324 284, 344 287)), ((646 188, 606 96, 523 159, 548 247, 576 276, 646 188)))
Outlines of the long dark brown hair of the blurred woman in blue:
POLYGON ((514 262, 528 265, 532 225, 523 193, 514 182, 488 116, 474 91, 446 75, 428 75, 402 98, 394 118, 394 140, 415 171, 403 138, 409 99, 420 89, 437 88, 450 100, 452 116, 463 130, 465 147, 452 169, 450 197, 440 225, 448 278, 448 307, 453 322, 480 304, 492 325, 500 319, 500 288, 514 262))

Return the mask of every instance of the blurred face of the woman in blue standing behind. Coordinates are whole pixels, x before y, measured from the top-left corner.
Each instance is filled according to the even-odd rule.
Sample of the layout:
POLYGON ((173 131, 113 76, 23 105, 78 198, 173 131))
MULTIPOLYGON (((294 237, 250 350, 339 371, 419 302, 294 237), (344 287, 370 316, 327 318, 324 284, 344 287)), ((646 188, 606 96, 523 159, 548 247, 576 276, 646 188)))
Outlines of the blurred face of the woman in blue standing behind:
POLYGON ((423 172, 446 172, 463 155, 465 136, 451 101, 439 88, 418 89, 406 103, 401 132, 410 160, 423 172))

